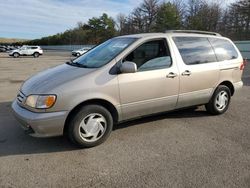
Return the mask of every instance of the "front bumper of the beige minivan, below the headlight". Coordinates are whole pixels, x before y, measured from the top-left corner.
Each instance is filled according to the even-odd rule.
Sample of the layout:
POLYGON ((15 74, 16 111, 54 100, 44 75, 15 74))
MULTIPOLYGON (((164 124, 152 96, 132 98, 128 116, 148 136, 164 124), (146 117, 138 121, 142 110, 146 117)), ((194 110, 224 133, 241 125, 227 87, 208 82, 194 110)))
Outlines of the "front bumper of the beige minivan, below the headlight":
POLYGON ((63 135, 67 111, 36 113, 12 103, 13 114, 22 128, 34 137, 52 137, 63 135))

